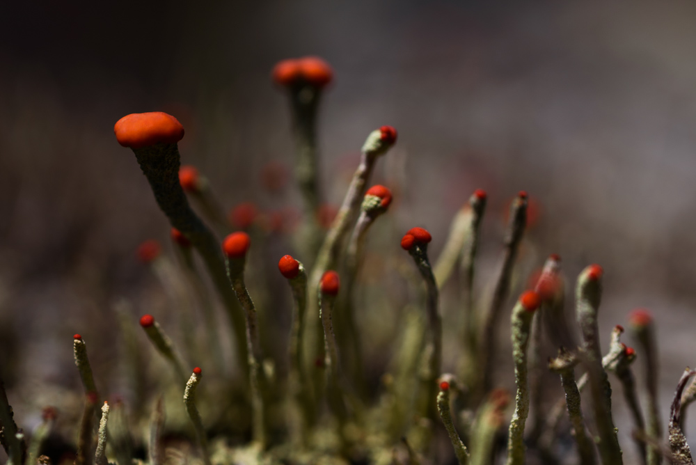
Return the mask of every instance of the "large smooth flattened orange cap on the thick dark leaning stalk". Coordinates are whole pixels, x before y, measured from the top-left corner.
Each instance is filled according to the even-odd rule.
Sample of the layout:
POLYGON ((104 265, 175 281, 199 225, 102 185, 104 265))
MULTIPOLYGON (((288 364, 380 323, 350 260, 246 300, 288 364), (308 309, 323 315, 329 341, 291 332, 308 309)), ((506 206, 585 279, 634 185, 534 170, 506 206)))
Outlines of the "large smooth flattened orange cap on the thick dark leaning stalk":
POLYGON ((143 148, 157 143, 177 143, 184 137, 184 127, 167 113, 132 113, 113 126, 116 140, 123 147, 143 148))

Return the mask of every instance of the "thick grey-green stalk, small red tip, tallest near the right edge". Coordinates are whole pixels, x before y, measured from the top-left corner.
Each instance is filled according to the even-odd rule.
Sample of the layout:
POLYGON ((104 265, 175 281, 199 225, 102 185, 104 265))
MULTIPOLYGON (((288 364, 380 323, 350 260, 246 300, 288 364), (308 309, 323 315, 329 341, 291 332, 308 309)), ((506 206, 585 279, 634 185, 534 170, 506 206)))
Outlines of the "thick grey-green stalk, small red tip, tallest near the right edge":
POLYGON ((578 276, 576 315, 583 335, 583 356, 592 391, 592 409, 599 433, 599 456, 604 464, 622 464, 622 452, 611 416, 611 385, 602 366, 597 313, 601 301, 603 269, 590 265, 578 276))

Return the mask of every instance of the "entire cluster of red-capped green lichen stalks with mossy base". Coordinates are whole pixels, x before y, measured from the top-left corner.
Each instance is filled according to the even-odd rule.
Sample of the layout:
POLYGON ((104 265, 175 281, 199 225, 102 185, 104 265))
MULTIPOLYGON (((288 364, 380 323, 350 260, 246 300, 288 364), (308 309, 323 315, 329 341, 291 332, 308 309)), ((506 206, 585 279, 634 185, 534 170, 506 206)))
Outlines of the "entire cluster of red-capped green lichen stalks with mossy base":
MULTIPOLYGON (((514 283, 519 282, 516 265, 525 246, 525 192, 510 205, 489 299, 480 299, 475 287, 487 203, 484 191, 475 191, 454 217, 434 262, 428 251, 430 233, 420 227, 406 232, 400 242, 404 252, 391 268, 415 303, 404 302, 401 333, 388 354, 387 373, 374 376, 373 364, 368 363, 373 354, 365 353, 365 335, 374 331, 367 331, 358 317, 385 312, 379 305, 386 304, 371 304, 361 285, 371 287, 374 294, 374 288, 386 286, 388 278, 368 273, 367 237, 398 199, 388 187, 370 187, 370 178, 396 143, 397 132, 383 126, 367 136, 345 198, 324 230, 317 216, 324 196, 316 125, 331 68, 319 58, 288 60, 276 66, 273 78, 290 97, 297 145, 295 176, 303 200, 302 221, 294 232, 295 257, 302 261, 292 255, 280 258, 278 269, 290 289, 273 291, 292 299, 290 336, 280 351, 285 356, 278 359, 269 350, 278 344, 277 332, 272 333, 271 319, 277 315, 269 304, 271 291, 253 284, 271 281, 263 274, 262 255, 255 255, 254 249, 274 236, 254 226, 255 211, 248 204, 232 215, 244 230, 232 231, 210 182, 195 168, 180 166, 177 142, 184 128, 173 116, 160 112, 125 116, 114 127, 116 138, 133 150, 157 204, 171 222, 177 260, 168 260, 157 242, 143 243, 139 256, 151 265, 171 294, 173 307, 180 310, 182 340, 175 344, 177 338, 167 335, 166 324, 160 325, 150 314, 141 316, 145 336, 166 367, 155 369, 154 375, 146 372, 132 313, 127 304, 119 306, 124 365, 136 393, 132 405, 124 405, 104 401, 109 399, 109 388, 97 388, 86 338, 74 335, 84 411, 68 461, 489 465, 505 460, 508 465, 616 465, 623 458, 612 418, 613 383, 622 386, 633 423, 622 428, 632 433, 631 447, 638 461, 693 464, 683 434, 683 409, 696 400, 696 385, 687 387, 696 372, 687 369, 679 380, 665 441, 657 403, 654 322, 647 311, 636 310, 630 328, 637 349, 621 342, 624 329, 616 326, 607 335, 608 351, 602 351, 597 324, 603 275, 599 265, 590 265, 577 278, 576 326, 564 310, 558 255, 548 257, 530 288, 511 303, 514 283), (253 278, 249 286, 247 276, 253 278), (457 276, 457 311, 443 316, 439 294, 457 276), (210 286, 217 299, 208 292, 210 286), (218 305, 225 310, 228 327, 216 320, 218 305), (194 309, 200 309, 200 315, 194 309), (508 317, 509 326, 503 325, 508 317), (192 336, 196 322, 204 326, 203 338, 192 336), (444 332, 456 334, 456 340, 443 340, 443 325, 454 328, 444 332), (500 349, 504 347, 498 340, 500 326, 510 330, 512 358, 500 349), (457 351, 456 356, 446 357, 445 348, 457 351), (557 355, 547 362, 550 348, 557 355), (498 370, 506 365, 500 362, 503 357, 514 365, 510 411, 511 396, 500 388, 509 379, 498 370), (456 360, 446 367, 451 373, 445 372, 443 362, 450 358, 456 360), (645 375, 638 381, 632 367, 636 359, 644 363, 645 375), (203 379, 204 370, 212 373, 210 381, 203 379), (578 372, 582 374, 576 377, 578 372), (548 382, 542 379, 555 375, 564 396, 548 402, 548 382), (146 384, 155 386, 150 393, 145 392, 146 384), (647 393, 644 406, 639 388, 647 393), (587 391, 584 397, 583 391, 587 391), (444 437, 452 449, 438 446, 442 442, 437 439, 444 437)), ((396 244, 397 239, 392 237, 391 242, 396 244)), ((55 418, 56 412, 49 409, 31 434, 24 432, 17 427, 0 384, 0 440, 8 463, 58 462, 46 455, 47 439, 58 434, 55 418)))

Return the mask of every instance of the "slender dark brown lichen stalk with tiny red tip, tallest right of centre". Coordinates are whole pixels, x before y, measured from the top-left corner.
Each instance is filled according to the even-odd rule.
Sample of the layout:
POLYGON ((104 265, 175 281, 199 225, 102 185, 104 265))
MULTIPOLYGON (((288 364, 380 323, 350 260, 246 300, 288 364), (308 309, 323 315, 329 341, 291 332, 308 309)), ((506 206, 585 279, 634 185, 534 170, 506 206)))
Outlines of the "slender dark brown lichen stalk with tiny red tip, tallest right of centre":
POLYGON ((522 241, 527 223, 527 193, 521 191, 510 205, 509 223, 503 244, 505 251, 503 262, 498 271, 496 287, 493 290, 493 299, 488 312, 484 315, 482 328, 482 344, 480 354, 480 367, 482 369, 482 392, 487 393, 493 387, 493 360, 496 352, 496 322, 500 319, 500 312, 507 299, 512 267, 517 257, 519 244, 522 241))

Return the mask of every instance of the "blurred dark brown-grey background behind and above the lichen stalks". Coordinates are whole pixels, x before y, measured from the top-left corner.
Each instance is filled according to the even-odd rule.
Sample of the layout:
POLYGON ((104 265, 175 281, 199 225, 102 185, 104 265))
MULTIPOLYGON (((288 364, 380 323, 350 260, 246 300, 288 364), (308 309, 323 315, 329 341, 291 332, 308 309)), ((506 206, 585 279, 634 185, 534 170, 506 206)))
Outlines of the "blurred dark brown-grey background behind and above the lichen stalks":
POLYGON ((291 166, 294 148, 270 71, 311 54, 335 72, 319 127, 326 199, 340 202, 365 136, 393 125, 397 148, 377 179, 404 180, 397 228, 427 227, 437 254, 454 212, 486 189, 490 264, 505 207, 525 189, 539 210, 527 265, 560 253, 569 288, 590 262, 606 270, 605 345, 631 309, 653 310, 666 418, 695 363, 695 14, 693 3, 649 1, 4 6, 0 375, 10 388, 77 389, 65 338, 91 332, 104 341, 96 364, 107 363, 113 303, 163 305, 134 251, 148 237, 167 243, 168 223, 113 136, 121 116, 179 118, 182 161, 227 207, 299 205, 295 191, 264 191, 260 173, 291 166))

